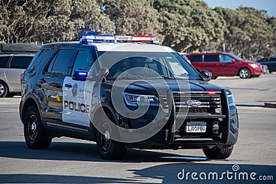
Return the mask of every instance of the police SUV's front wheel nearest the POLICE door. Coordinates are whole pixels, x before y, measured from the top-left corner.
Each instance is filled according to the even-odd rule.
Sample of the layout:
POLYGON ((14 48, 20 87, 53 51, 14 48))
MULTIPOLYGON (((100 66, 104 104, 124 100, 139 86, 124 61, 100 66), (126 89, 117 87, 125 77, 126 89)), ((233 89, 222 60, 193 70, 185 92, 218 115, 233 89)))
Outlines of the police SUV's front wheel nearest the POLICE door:
MULTIPOLYGON (((110 116, 110 115, 108 115, 110 116)), ((97 150, 101 159, 104 160, 119 160, 126 154, 126 147, 124 143, 119 143, 110 139, 110 126, 108 123, 112 123, 108 117, 103 114, 99 118, 99 125, 101 125, 101 132, 106 132, 105 135, 101 132, 97 132, 97 150)))

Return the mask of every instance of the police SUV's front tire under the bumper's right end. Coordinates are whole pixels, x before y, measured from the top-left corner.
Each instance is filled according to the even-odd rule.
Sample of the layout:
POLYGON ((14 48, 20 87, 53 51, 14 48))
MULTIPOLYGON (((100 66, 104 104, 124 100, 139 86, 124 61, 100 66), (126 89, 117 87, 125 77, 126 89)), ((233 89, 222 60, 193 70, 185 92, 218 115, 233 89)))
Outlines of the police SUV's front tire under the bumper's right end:
POLYGON ((233 151, 233 146, 228 148, 203 149, 208 159, 227 159, 233 151))

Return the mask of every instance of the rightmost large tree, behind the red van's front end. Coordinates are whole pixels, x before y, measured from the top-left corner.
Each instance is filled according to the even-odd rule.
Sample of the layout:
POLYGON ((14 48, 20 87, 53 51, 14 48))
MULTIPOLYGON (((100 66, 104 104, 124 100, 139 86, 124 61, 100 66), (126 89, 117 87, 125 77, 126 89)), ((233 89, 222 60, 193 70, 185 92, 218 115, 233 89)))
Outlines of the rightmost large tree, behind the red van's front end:
POLYGON ((250 60, 275 52, 275 17, 268 17, 265 10, 240 6, 237 10, 217 7, 215 11, 226 21, 219 50, 250 60))

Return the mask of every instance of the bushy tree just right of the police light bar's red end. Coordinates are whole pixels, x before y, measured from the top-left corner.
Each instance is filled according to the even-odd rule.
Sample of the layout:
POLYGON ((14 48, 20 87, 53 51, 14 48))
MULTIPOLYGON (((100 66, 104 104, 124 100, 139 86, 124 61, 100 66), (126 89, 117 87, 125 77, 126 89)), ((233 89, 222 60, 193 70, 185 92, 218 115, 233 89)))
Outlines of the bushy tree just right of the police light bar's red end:
POLYGON ((155 0, 161 14, 164 45, 180 52, 206 48, 223 37, 224 20, 201 0, 155 0))

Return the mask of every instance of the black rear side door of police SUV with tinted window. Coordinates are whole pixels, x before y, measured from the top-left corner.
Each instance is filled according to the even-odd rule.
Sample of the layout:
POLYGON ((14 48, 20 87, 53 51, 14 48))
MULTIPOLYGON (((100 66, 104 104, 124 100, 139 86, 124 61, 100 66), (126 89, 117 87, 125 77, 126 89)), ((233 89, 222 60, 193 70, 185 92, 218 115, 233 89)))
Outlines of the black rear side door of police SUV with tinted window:
POLYGON ((70 64, 76 50, 74 48, 62 48, 57 50, 46 68, 39 76, 38 83, 41 84, 46 96, 46 110, 44 118, 47 125, 62 127, 63 90, 62 85, 66 76, 69 75, 70 64))

